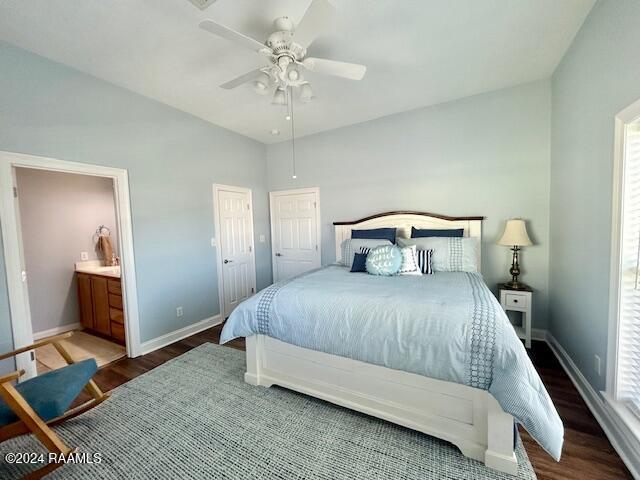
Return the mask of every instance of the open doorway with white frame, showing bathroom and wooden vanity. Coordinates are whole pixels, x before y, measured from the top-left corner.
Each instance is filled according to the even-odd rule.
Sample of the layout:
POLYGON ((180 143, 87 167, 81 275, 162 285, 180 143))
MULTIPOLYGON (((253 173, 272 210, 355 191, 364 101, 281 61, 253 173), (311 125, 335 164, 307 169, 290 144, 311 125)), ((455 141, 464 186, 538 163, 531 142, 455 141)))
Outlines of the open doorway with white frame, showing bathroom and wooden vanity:
MULTIPOLYGON (((126 171, 0 152, 0 182, 14 348, 77 330, 64 340, 74 358, 137 356, 126 171)), ((60 360, 42 349, 18 356, 16 367, 28 378, 60 360)))

